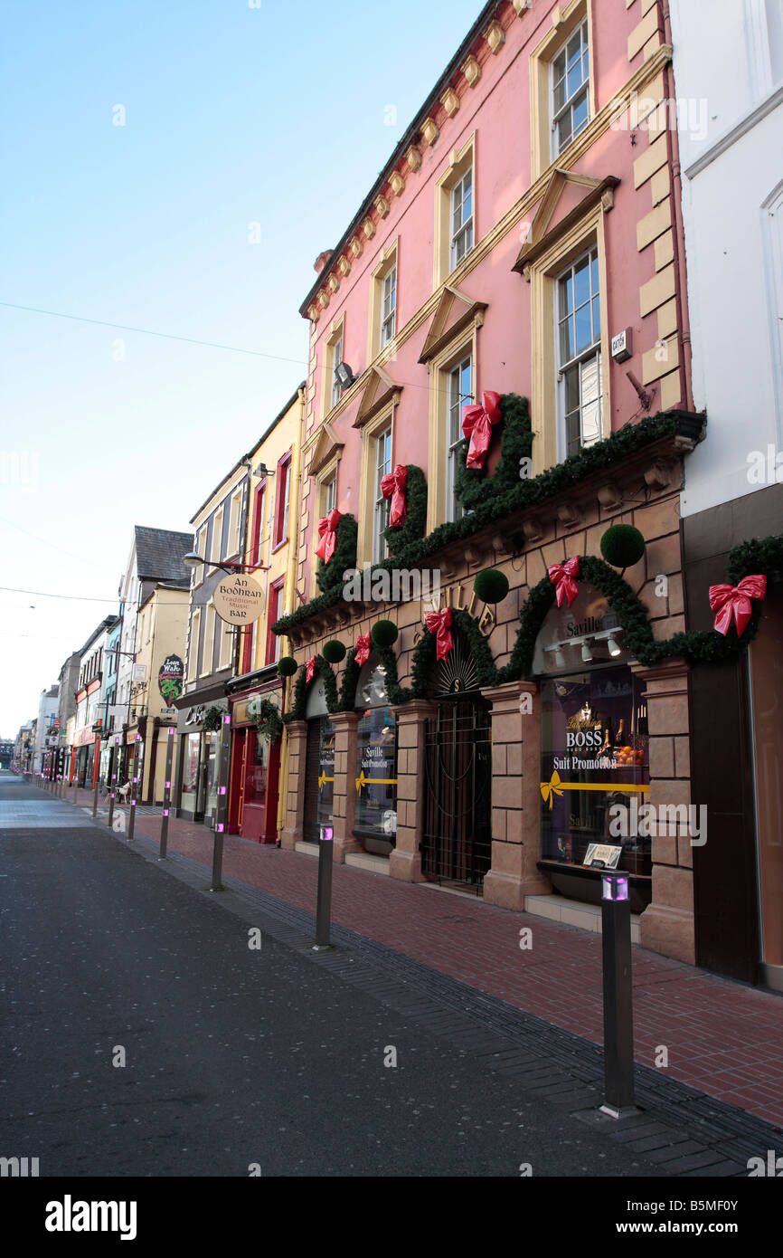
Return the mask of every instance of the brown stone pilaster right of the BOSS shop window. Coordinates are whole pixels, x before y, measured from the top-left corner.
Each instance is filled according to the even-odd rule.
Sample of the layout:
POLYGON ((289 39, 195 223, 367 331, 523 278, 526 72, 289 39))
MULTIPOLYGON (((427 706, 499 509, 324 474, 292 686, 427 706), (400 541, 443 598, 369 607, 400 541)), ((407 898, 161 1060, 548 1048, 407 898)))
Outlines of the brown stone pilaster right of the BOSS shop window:
MULTIPOLYGON (((660 668, 631 665, 646 683, 650 732, 650 794, 647 801, 661 805, 691 803, 690 762, 682 755, 689 738, 687 674, 684 659, 671 659, 660 668)), ((659 827, 660 828, 660 827, 659 827)), ((669 830, 670 827, 666 827, 669 830)), ((641 944, 654 952, 694 965, 693 848, 687 823, 676 834, 652 837, 652 902, 641 916, 641 944)))

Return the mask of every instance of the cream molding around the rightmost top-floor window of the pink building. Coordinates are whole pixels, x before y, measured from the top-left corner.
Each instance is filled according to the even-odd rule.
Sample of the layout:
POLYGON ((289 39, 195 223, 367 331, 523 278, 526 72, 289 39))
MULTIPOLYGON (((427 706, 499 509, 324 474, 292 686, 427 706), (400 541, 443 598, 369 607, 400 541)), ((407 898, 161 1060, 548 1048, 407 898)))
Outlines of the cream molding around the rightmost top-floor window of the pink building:
MULTIPOLYGON (((543 175, 548 166, 561 160, 589 126, 597 113, 596 74, 593 65, 592 5, 587 0, 572 0, 568 5, 558 5, 552 14, 552 29, 530 54, 530 182, 543 175), (559 152, 553 147, 553 67, 568 40, 582 26, 587 38, 587 120, 571 142, 559 152)), ((571 96, 571 93, 569 93, 571 96)))

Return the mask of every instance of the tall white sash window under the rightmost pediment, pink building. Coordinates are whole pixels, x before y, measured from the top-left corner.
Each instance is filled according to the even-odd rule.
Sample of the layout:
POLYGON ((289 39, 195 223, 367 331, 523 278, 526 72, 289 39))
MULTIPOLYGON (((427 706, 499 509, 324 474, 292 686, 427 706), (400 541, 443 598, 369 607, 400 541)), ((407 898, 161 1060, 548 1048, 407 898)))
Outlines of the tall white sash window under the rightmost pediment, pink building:
POLYGON ((601 269, 598 262, 598 247, 597 244, 589 245, 583 253, 579 253, 568 267, 558 273, 554 281, 554 337, 556 337, 556 364, 557 364, 557 396, 558 396, 558 459, 562 462, 569 454, 578 454, 581 449, 586 449, 589 445, 594 445, 602 438, 602 381, 601 381, 601 269), (576 273, 582 268, 584 262, 588 262, 588 284, 589 296, 587 302, 582 302, 576 306, 576 273), (571 279, 572 284, 572 304, 569 307, 563 306, 563 281, 571 279), (593 283, 596 281, 596 283, 593 283), (577 313, 581 309, 589 307, 591 318, 591 341, 589 345, 577 348, 576 343, 576 327, 577 327, 577 313), (597 309, 597 323, 596 323, 596 309, 597 309), (573 353, 566 356, 563 348, 563 326, 567 321, 573 321, 573 353), (586 387, 586 372, 594 362, 596 375, 593 380, 592 391, 594 392, 593 399, 584 398, 586 387), (579 389, 579 403, 576 414, 578 415, 579 423, 579 445, 574 450, 569 450, 571 439, 568 435, 568 416, 574 414, 573 409, 568 411, 568 377, 574 372, 578 374, 578 389, 579 389), (587 431, 584 418, 588 408, 594 406, 597 411, 594 414, 594 420, 592 428, 594 431, 587 431), (587 437, 587 439, 586 439, 587 437))

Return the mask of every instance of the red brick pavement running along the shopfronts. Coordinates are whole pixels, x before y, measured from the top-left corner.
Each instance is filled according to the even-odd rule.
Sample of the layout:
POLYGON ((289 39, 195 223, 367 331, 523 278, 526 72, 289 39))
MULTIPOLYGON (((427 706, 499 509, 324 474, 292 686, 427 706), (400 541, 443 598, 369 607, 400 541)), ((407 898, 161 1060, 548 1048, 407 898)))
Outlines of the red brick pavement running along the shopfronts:
MULTIPOLYGON (((73 791, 68 794, 73 800, 73 791)), ((92 793, 79 791, 92 811, 92 793)), ((103 810, 104 811, 104 810, 103 810)), ((158 838, 140 809, 136 833, 158 838)), ((160 811, 160 810, 157 810, 160 811)), ((104 813, 106 815, 106 813, 104 813)), ((212 832, 172 818, 168 848, 212 863, 212 832)), ((318 862, 226 835, 224 874, 314 912, 318 862)), ((420 883, 334 866, 332 918, 596 1044, 603 1040, 601 936, 420 883), (519 949, 523 926, 533 947, 519 949)), ((635 1057, 691 1087, 783 1125, 783 999, 633 947, 635 1057)))

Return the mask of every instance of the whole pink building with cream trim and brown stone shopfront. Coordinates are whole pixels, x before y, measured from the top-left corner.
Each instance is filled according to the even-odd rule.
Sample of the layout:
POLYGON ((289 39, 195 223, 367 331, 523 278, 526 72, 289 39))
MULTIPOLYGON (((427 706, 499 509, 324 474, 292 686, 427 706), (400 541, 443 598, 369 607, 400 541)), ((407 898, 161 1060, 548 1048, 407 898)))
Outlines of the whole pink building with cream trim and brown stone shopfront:
POLYGON ((693 961, 674 96, 661 0, 486 4, 318 258, 283 842, 593 930, 603 862, 693 961))

